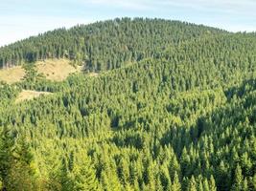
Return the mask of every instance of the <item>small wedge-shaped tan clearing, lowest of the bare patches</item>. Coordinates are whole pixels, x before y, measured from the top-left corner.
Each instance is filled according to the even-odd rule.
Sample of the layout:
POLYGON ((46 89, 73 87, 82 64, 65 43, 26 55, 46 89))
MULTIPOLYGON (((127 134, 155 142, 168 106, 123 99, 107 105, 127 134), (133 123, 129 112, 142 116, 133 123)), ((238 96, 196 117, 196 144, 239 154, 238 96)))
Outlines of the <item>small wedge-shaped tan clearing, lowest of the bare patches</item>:
POLYGON ((25 100, 31 100, 34 99, 35 97, 39 96, 48 96, 48 95, 53 95, 53 93, 48 93, 48 92, 36 92, 36 91, 30 91, 30 90, 23 90, 19 95, 17 96, 15 103, 20 103, 25 100))

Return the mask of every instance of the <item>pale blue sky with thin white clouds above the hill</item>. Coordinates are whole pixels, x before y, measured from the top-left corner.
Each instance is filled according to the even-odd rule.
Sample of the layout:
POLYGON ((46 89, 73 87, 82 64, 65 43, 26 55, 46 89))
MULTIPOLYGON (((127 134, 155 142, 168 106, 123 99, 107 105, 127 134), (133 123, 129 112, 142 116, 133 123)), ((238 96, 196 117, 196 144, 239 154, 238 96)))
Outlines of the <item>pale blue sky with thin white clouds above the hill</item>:
POLYGON ((0 0, 0 46, 116 17, 157 17, 256 32, 256 0, 0 0))

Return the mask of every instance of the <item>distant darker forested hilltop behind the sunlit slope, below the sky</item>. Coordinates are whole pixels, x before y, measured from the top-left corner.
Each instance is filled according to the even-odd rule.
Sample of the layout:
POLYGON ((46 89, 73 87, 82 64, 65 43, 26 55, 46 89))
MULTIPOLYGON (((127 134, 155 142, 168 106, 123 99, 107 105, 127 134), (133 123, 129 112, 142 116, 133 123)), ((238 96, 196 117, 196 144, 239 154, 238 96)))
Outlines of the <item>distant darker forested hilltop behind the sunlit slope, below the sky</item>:
POLYGON ((0 49, 0 68, 47 58, 69 58, 90 71, 120 68, 130 61, 155 57, 185 40, 227 33, 209 27, 163 19, 123 18, 59 29, 0 49))

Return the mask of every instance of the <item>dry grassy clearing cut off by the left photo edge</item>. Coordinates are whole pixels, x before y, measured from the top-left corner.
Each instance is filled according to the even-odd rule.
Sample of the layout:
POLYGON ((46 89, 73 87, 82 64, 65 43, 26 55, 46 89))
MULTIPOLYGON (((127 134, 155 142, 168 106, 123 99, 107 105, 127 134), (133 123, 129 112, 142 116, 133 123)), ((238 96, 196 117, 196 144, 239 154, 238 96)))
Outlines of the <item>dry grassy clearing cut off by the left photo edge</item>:
POLYGON ((10 69, 0 70, 0 81, 5 81, 8 84, 12 84, 22 80, 25 75, 25 71, 21 66, 16 66, 10 69))

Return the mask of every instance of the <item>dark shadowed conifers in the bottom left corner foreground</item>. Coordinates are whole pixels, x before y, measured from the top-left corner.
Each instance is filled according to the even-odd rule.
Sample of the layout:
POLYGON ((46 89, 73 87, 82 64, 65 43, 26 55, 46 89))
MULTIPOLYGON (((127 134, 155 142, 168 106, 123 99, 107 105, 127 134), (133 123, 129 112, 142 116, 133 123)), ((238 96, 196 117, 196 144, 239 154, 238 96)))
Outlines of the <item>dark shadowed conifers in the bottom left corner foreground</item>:
POLYGON ((2 189, 6 190, 35 190, 35 168, 33 154, 24 137, 14 143, 14 135, 9 128, 1 133, 0 177, 2 189))

